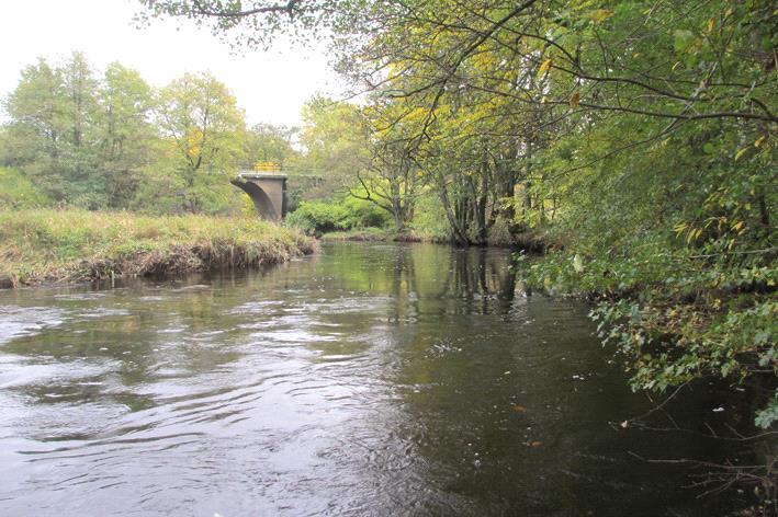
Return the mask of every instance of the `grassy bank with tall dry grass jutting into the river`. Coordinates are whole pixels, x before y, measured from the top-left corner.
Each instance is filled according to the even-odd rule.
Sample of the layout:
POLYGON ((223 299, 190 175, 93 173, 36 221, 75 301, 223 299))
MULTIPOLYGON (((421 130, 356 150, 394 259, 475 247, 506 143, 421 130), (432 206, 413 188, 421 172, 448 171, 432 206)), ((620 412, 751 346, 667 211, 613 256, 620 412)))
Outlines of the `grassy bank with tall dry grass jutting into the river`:
POLYGON ((314 239, 256 219, 84 210, 0 211, 0 286, 255 267, 314 239))

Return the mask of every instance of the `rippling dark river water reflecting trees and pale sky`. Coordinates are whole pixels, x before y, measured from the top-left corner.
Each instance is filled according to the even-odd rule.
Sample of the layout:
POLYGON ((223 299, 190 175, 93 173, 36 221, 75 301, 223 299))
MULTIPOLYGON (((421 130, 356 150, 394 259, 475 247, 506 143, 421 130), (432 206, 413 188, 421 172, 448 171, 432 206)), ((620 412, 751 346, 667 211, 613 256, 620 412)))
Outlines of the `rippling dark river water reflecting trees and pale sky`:
MULTIPOLYGON (((342 243, 0 291, 0 514, 721 515, 731 497, 636 456, 731 451, 620 429, 650 405, 587 308, 523 295, 508 261, 342 243)), ((679 413, 717 418, 713 399, 679 413)))

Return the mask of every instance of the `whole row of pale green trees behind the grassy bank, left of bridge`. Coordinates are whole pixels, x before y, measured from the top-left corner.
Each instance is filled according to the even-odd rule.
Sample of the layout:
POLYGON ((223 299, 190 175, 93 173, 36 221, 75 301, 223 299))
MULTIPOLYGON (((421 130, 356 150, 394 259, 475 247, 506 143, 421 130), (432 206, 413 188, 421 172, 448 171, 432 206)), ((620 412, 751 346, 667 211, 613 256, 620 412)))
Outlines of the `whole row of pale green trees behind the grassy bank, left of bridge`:
POLYGON ((26 195, 0 197, 9 206, 236 211, 240 196, 228 180, 239 168, 296 153, 294 130, 247 128, 235 96, 210 73, 154 89, 117 62, 98 71, 80 53, 24 68, 2 107, 4 183, 26 185, 26 195))

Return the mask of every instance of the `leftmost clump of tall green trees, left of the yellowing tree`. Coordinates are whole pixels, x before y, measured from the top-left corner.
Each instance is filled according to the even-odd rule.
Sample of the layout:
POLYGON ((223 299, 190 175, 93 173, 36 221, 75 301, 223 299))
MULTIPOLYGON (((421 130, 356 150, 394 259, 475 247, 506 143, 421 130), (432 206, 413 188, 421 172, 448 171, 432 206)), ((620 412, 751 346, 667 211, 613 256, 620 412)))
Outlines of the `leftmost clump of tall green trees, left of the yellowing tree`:
POLYGON ((99 80, 79 53, 56 66, 40 59, 4 108, 4 164, 56 202, 126 206, 153 138, 150 90, 137 72, 113 64, 99 80))

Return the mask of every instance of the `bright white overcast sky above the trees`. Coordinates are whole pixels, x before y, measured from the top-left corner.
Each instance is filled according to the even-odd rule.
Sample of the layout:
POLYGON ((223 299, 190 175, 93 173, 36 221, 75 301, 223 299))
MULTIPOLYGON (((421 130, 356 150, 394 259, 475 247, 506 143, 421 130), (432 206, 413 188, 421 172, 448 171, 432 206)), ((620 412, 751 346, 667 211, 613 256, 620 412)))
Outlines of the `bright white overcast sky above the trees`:
POLYGON ((336 95, 338 80, 322 49, 284 48, 233 55, 206 28, 185 20, 159 20, 138 30, 134 0, 0 0, 0 97, 38 56, 86 54, 97 70, 112 61, 138 70, 155 87, 183 72, 211 71, 246 110, 249 125, 300 124, 300 108, 315 93, 336 95))

